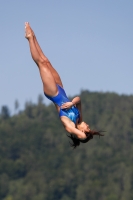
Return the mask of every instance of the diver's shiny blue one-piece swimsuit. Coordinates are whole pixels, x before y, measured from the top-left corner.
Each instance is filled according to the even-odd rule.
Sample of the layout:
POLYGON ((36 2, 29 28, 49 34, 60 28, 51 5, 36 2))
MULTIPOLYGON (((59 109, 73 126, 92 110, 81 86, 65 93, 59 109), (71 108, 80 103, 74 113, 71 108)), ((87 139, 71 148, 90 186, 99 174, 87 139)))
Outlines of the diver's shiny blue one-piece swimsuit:
MULTIPOLYGON (((71 102, 68 99, 68 97, 66 96, 64 89, 59 85, 57 85, 57 88, 58 88, 57 96, 50 97, 44 93, 45 96, 49 100, 51 100, 53 103, 57 104, 59 107, 61 107, 66 102, 71 102)), ((59 117, 61 117, 61 116, 68 117, 71 121, 73 121, 76 124, 77 119, 79 119, 80 113, 79 113, 79 110, 75 106, 72 106, 69 109, 61 109, 60 108, 59 117)))

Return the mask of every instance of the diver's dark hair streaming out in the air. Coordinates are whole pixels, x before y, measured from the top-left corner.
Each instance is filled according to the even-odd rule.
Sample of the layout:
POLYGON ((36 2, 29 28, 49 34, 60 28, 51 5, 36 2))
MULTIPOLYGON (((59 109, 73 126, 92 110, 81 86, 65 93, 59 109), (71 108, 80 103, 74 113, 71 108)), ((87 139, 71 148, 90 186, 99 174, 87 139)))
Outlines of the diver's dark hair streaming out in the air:
POLYGON ((86 132, 86 136, 87 138, 85 140, 80 140, 78 138, 75 138, 72 134, 67 135, 73 143, 70 143, 71 147, 73 147, 74 149, 80 145, 80 142, 81 143, 87 143, 89 140, 93 139, 93 136, 94 135, 99 135, 100 136, 104 136, 103 134, 101 134, 101 132, 105 132, 105 131, 94 131, 94 130, 90 130, 89 132, 86 132))

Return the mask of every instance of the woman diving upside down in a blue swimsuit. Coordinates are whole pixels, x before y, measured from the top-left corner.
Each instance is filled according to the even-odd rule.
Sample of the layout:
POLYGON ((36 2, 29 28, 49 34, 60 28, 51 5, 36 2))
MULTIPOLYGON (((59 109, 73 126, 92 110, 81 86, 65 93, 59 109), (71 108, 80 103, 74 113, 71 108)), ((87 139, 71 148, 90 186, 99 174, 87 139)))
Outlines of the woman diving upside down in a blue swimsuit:
POLYGON ((29 42, 31 56, 39 68, 44 94, 55 104, 62 124, 70 134, 71 145, 75 148, 80 142, 88 142, 94 135, 103 136, 98 131, 90 130, 89 125, 82 120, 80 97, 70 101, 66 96, 59 74, 42 52, 28 22, 25 23, 25 37, 29 42))

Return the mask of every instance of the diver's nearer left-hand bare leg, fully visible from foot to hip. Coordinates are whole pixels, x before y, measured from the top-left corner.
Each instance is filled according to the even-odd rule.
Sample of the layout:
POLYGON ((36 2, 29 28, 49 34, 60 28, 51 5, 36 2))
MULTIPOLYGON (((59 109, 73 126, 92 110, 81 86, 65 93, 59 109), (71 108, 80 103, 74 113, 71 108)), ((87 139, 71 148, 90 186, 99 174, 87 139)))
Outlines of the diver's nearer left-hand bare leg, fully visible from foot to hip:
POLYGON ((41 79, 43 82, 44 92, 49 96, 56 96, 58 93, 58 90, 57 90, 55 79, 49 69, 49 66, 47 65, 46 60, 44 60, 40 56, 36 48, 32 30, 29 26, 29 23, 25 23, 25 37, 29 41, 31 56, 39 68, 41 79))

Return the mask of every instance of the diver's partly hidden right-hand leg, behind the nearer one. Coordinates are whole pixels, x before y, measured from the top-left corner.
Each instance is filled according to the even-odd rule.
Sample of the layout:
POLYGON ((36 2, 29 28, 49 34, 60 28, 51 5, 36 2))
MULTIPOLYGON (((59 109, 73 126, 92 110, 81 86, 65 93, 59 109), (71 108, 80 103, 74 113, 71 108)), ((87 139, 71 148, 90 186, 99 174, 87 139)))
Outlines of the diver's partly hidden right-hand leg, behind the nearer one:
POLYGON ((51 65, 51 63, 50 63, 50 61, 48 60, 48 58, 44 55, 44 53, 43 53, 43 51, 42 51, 42 49, 41 49, 41 47, 40 47, 40 45, 39 45, 39 43, 38 43, 38 41, 37 41, 37 39, 36 39, 36 36, 35 36, 33 30, 32 30, 32 33, 33 33, 33 35, 34 35, 34 42, 35 42, 36 48, 37 48, 37 50, 38 50, 38 53, 39 53, 40 56, 47 62, 47 65, 48 65, 48 67, 49 67, 51 73, 52 73, 53 76, 54 76, 55 82, 56 82, 58 85, 60 85, 61 87, 63 87, 63 84, 62 84, 62 81, 61 81, 61 78, 60 78, 58 72, 53 68, 53 66, 51 65))

